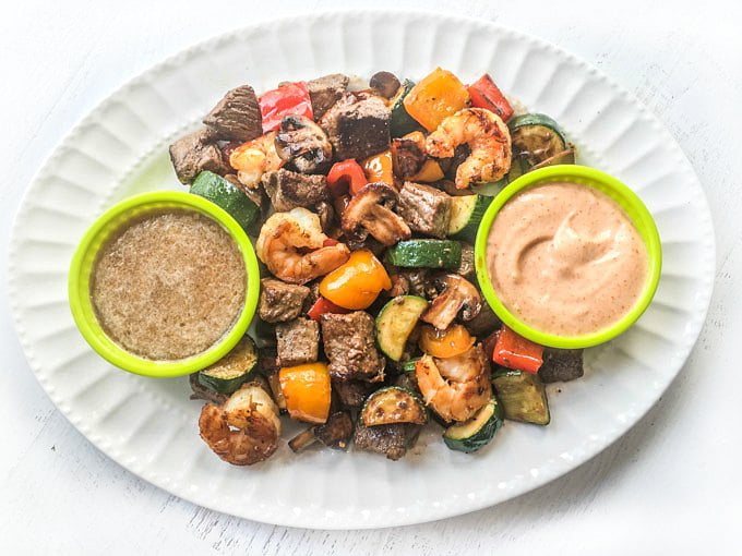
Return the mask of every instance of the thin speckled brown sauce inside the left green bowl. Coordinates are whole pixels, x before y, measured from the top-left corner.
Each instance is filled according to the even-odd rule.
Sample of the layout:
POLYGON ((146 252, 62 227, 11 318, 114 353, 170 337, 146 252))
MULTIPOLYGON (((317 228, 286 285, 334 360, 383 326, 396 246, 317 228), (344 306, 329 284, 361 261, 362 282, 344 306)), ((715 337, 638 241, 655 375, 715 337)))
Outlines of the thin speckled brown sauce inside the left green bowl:
POLYGON ((104 246, 91 299, 106 334, 136 355, 171 361, 201 353, 244 305, 244 262, 235 240, 192 210, 151 214, 104 246))

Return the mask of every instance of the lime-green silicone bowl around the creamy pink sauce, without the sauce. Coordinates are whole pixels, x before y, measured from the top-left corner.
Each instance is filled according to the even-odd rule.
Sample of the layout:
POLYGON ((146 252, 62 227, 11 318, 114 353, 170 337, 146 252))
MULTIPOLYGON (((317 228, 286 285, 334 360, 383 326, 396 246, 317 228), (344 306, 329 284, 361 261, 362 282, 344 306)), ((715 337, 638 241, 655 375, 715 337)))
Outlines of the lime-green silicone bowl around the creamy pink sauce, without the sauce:
POLYGON ((525 173, 513 181, 513 183, 508 184, 496 197, 494 197, 488 207, 482 221, 479 223, 477 241, 475 244, 477 279, 479 280, 479 286, 484 298, 494 313, 505 325, 520 336, 552 348, 588 348, 590 346, 603 343, 625 331, 639 316, 642 316, 642 313, 644 313, 651 302, 655 291, 657 291, 657 285, 659 283, 661 266, 662 247, 659 240, 659 233, 657 232, 657 226, 655 226, 655 220, 651 218, 647 207, 642 203, 642 200, 615 178, 585 166, 550 166, 525 173), (634 307, 612 326, 583 336, 558 336, 543 333, 525 324, 511 313, 500 301, 498 293, 492 287, 490 274, 487 269, 487 237, 489 235, 492 222, 494 222, 498 217, 500 209, 510 198, 527 188, 558 181, 578 183, 587 188, 594 188, 615 201, 619 206, 623 208, 634 223, 636 230, 639 232, 639 235, 647 246, 647 254, 649 256, 647 281, 644 291, 634 307))

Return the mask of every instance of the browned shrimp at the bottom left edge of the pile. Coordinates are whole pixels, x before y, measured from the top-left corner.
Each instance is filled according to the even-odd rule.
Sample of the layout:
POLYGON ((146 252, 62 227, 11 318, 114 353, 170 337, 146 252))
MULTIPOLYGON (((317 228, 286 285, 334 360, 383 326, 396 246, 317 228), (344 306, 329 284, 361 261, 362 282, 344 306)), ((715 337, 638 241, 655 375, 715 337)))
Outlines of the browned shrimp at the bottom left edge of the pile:
POLYGON ((206 403, 199 430, 219 458, 234 466, 252 466, 276 451, 280 435, 278 408, 261 386, 249 383, 222 407, 206 403))

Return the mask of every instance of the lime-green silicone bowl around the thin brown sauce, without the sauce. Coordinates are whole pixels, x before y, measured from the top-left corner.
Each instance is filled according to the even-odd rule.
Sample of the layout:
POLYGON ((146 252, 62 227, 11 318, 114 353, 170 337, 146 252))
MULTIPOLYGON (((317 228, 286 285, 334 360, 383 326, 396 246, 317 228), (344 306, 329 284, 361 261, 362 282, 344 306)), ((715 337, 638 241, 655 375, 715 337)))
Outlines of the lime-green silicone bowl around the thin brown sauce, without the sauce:
POLYGON ((176 191, 158 191, 129 197, 106 210, 85 232, 72 257, 69 275, 70 309, 77 328, 91 347, 113 365, 139 375, 154 377, 181 376, 202 370, 227 354, 244 336, 255 313, 260 293, 258 258, 244 230, 226 210, 198 195, 176 191), (98 251, 106 241, 134 217, 161 209, 196 210, 219 225, 232 237, 244 259, 247 292, 244 306, 235 325, 214 346, 191 358, 177 361, 153 361, 121 348, 101 328, 91 301, 91 273, 98 251))

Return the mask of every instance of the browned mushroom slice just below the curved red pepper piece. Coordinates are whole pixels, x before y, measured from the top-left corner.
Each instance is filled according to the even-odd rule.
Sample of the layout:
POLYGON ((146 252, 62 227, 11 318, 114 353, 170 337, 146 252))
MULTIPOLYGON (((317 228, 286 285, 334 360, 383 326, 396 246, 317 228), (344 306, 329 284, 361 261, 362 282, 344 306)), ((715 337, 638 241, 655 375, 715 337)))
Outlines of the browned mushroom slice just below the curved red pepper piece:
POLYGON ((358 237, 364 230, 384 245, 409 239, 409 226, 391 209, 396 201, 397 193, 385 183, 364 185, 343 211, 343 231, 358 237))

